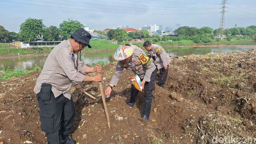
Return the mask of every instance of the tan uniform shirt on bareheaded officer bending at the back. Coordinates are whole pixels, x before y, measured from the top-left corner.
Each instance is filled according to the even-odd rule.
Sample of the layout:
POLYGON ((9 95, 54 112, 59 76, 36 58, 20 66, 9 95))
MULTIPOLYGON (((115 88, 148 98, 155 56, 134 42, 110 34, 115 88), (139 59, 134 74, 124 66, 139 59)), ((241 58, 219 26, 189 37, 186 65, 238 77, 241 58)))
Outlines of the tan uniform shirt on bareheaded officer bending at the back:
POLYGON ((152 44, 152 49, 148 51, 148 56, 153 59, 158 69, 164 68, 164 66, 167 66, 172 61, 170 56, 164 51, 164 48, 158 44, 152 44))

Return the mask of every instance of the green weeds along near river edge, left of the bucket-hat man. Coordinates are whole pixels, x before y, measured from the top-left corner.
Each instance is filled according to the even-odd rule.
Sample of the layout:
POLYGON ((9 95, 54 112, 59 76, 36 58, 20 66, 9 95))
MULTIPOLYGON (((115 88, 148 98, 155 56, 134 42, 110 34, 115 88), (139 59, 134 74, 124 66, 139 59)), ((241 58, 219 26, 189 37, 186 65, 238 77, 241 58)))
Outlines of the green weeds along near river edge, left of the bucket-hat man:
POLYGON ((32 70, 25 70, 25 71, 20 70, 18 68, 10 69, 9 67, 7 67, 0 71, 0 80, 10 79, 14 76, 15 77, 24 76, 37 70, 41 70, 41 68, 37 65, 32 70))

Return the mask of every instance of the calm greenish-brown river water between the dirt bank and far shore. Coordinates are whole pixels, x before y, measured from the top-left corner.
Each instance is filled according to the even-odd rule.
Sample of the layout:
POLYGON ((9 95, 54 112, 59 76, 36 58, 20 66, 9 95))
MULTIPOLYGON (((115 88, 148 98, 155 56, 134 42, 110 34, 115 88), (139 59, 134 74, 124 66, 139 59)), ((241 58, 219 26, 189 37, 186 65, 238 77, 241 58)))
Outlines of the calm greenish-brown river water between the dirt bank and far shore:
MULTIPOLYGON (((224 45, 224 44, 221 44, 224 45)), ((225 45, 256 45, 256 41, 252 42, 239 42, 239 43, 231 43, 225 45)), ((208 53, 227 53, 227 52, 235 52, 235 51, 244 51, 251 50, 256 47, 164 47, 164 50, 170 56, 184 56, 189 54, 203 55, 208 53)), ((144 48, 143 48, 144 49, 144 48)), ((144 51, 146 51, 144 49, 144 51)), ((84 63, 92 63, 100 60, 109 60, 110 62, 115 61, 113 59, 115 50, 111 51, 103 51, 103 52, 82 52, 82 60, 84 63)), ((10 59, 0 59, 0 70, 10 67, 12 68, 20 68, 23 70, 29 70, 35 67, 37 64, 41 68, 44 66, 44 62, 47 56, 31 56, 31 57, 17 57, 10 59)))

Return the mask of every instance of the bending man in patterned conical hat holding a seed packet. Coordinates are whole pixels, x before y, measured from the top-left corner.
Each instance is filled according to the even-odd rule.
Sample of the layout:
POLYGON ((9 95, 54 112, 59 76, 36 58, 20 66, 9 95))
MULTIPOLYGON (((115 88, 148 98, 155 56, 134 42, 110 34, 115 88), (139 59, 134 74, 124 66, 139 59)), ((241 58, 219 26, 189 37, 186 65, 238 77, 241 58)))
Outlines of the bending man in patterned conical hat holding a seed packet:
MULTIPOLYGON (((117 85, 124 68, 127 70, 132 70, 140 77, 141 86, 144 88, 145 103, 143 107, 142 118, 145 121, 148 121, 153 98, 152 91, 155 90, 157 71, 155 64, 151 62, 149 57, 146 56, 145 52, 136 50, 134 51, 134 48, 123 45, 120 45, 116 50, 114 59, 118 60, 116 65, 116 72, 112 76, 110 84, 105 90, 105 95, 110 95, 112 88, 117 85)), ((128 106, 132 107, 134 105, 138 92, 139 91, 135 89, 132 84, 131 98, 129 102, 127 102, 128 106)))

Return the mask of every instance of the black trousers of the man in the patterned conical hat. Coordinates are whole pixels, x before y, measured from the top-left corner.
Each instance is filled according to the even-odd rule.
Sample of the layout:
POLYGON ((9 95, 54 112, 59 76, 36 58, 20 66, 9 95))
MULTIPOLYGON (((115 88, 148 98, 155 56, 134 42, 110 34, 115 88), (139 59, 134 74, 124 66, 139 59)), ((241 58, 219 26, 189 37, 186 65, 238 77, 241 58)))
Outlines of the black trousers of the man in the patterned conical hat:
MULTIPOLYGON (((156 72, 157 72, 157 68, 152 72, 152 74, 150 76, 150 82, 146 82, 145 85, 144 85, 145 101, 152 101, 152 99, 153 99, 153 92, 152 91, 155 90, 156 72)), ((140 81, 142 81, 142 79, 140 79, 140 81)), ((137 95, 139 90, 137 90, 132 84, 131 92, 137 95)))

